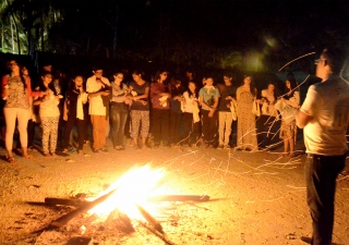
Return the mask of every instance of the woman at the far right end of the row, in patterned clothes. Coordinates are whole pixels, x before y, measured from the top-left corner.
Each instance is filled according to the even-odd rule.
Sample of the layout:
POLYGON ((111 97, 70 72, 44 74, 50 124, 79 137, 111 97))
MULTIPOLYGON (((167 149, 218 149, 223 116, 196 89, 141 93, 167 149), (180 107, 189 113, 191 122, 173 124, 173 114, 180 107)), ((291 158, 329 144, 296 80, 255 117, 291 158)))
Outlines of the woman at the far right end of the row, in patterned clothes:
POLYGON ((300 95, 294 76, 289 76, 285 82, 285 90, 280 100, 281 126, 280 138, 284 140, 282 157, 294 156, 297 139, 296 112, 300 105, 300 95))

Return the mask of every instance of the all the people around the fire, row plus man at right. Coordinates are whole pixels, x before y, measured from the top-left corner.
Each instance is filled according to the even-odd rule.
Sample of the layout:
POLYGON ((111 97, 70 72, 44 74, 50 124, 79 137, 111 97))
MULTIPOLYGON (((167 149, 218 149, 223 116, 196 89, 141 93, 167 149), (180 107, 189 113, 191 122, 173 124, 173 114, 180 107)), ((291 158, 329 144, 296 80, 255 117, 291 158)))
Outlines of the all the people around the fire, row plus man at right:
POLYGON ((125 148, 128 120, 136 149, 149 148, 149 134, 152 148, 197 143, 205 147, 230 148, 231 125, 237 120, 238 149, 269 150, 275 132, 279 131, 285 148, 282 155, 287 157, 293 157, 298 126, 304 128, 308 156, 306 195, 313 220, 310 243, 329 245, 336 177, 345 168, 348 150, 349 85, 340 76, 345 54, 337 49, 323 50, 316 60, 316 76, 322 82, 310 86, 300 109, 293 76, 287 77, 284 91, 278 93, 274 83, 258 91, 251 75, 245 75, 239 87, 229 73, 222 75, 224 83, 217 86, 212 76, 203 78, 202 84, 189 76, 183 86, 178 77, 169 79, 166 70, 158 71, 152 81, 146 81, 144 73, 135 70, 133 81, 127 84, 123 72, 113 73, 113 81, 109 82, 103 76, 103 68, 96 66, 86 83, 84 76, 75 75, 71 86, 62 93, 61 84, 52 83, 49 70, 40 74, 38 86, 32 89, 27 69, 10 60, 7 63, 9 73, 2 77, 7 160, 15 161, 12 152, 15 128, 20 133, 23 158, 33 159, 28 148, 35 122, 40 123, 46 157, 56 156, 60 124, 64 125, 63 151, 69 151, 75 125, 77 154, 83 155, 88 125, 92 125, 93 151, 97 154, 108 151, 108 128, 113 148, 125 148), (275 128, 279 120, 281 125, 275 128))

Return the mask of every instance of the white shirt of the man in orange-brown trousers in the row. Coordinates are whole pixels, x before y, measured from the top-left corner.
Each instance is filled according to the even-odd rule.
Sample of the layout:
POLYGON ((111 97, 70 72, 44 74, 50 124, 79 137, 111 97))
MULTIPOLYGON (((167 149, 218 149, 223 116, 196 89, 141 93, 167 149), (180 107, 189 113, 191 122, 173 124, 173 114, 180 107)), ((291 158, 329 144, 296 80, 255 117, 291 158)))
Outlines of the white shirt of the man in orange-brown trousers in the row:
MULTIPOLYGON (((108 86, 110 86, 109 79, 106 77, 101 77, 101 82, 108 86)), ((93 75, 87 78, 86 82, 86 91, 87 93, 96 93, 101 88, 101 84, 96 82, 96 76, 93 75)), ((100 96, 95 96, 89 98, 89 107, 88 114, 95 115, 106 115, 106 107, 103 105, 103 99, 100 96)))

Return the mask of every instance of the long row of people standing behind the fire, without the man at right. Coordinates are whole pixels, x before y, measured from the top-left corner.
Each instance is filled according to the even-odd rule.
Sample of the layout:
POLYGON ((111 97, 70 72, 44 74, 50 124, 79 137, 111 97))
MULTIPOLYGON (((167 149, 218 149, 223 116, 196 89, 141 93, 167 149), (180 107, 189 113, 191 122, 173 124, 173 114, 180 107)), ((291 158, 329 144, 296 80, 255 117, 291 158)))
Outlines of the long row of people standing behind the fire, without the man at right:
POLYGON ((60 114, 65 121, 62 136, 64 152, 69 151, 71 131, 75 125, 79 135, 77 152, 83 155, 89 123, 94 152, 108 151, 108 128, 115 149, 124 149, 128 117, 135 148, 148 148, 149 132, 153 135, 152 148, 160 145, 191 146, 201 139, 205 147, 218 145, 218 148, 230 148, 232 121, 238 119, 238 148, 256 150, 270 145, 270 139, 275 137, 273 126, 280 115, 284 154, 288 155, 290 149, 289 156, 292 156, 294 151, 297 126, 292 108, 299 105, 299 93, 296 79, 292 78, 286 81, 286 90, 280 97, 275 84, 270 83, 262 90, 262 99, 256 99, 257 90, 250 75, 244 77, 238 88, 232 84, 229 73, 224 74, 224 84, 217 86, 214 85, 214 78, 207 76, 198 90, 193 81, 189 82, 188 88, 183 88, 181 81, 176 77, 167 83, 166 70, 158 71, 152 83, 143 78, 141 71, 133 71, 133 81, 125 84, 122 72, 116 72, 110 83, 103 76, 103 69, 96 66, 86 84, 82 75, 76 75, 63 97, 57 84, 52 83, 51 72, 41 74, 39 86, 33 91, 26 70, 14 60, 8 64, 10 73, 2 77, 2 98, 5 100, 5 148, 10 162, 14 160, 12 145, 16 119, 23 157, 32 158, 27 154, 26 127, 28 120, 35 117, 36 107, 39 108, 36 121, 40 122, 45 156, 56 156, 60 114), (61 103, 62 109, 59 107, 61 103), (262 115, 251 110, 255 103, 260 105, 258 109, 262 108, 262 115))

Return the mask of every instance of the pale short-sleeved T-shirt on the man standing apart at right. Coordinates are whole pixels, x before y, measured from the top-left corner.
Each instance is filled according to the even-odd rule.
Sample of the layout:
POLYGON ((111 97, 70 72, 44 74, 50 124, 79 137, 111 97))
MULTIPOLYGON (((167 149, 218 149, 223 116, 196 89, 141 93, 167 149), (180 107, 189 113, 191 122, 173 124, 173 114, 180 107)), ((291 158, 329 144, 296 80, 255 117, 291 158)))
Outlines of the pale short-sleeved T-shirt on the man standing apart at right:
POLYGON ((300 109, 313 119, 304 126, 306 152, 339 156, 347 151, 349 84, 330 77, 311 85, 300 109))

